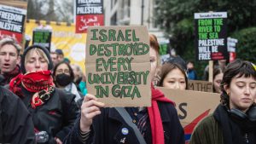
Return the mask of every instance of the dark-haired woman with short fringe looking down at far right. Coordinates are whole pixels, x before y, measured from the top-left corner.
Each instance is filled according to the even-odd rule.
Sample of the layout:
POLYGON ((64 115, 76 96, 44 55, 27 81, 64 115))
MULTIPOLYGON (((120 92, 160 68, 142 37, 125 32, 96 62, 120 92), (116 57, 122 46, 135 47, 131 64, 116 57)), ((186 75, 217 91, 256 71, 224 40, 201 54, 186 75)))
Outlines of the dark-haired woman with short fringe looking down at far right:
POLYGON ((189 144, 256 143, 256 71, 235 60, 224 70, 221 104, 197 125, 189 144))

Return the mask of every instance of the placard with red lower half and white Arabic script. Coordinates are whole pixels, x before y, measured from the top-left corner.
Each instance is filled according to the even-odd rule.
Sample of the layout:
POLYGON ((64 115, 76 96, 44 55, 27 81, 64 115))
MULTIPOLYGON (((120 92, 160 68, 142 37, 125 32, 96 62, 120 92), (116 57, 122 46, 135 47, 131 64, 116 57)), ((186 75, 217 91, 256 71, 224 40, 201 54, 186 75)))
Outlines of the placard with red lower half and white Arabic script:
POLYGON ((76 33, 86 33, 88 26, 103 26, 103 0, 75 0, 76 33))

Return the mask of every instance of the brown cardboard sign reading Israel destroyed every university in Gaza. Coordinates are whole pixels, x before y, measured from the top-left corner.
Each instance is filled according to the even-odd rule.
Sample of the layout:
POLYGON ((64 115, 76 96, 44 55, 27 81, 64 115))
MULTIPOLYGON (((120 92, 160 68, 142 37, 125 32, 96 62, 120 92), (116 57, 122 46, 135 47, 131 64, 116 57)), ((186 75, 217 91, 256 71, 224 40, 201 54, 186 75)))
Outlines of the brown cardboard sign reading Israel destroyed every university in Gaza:
POLYGON ((85 61, 88 92, 107 107, 151 105, 146 26, 90 26, 85 61))

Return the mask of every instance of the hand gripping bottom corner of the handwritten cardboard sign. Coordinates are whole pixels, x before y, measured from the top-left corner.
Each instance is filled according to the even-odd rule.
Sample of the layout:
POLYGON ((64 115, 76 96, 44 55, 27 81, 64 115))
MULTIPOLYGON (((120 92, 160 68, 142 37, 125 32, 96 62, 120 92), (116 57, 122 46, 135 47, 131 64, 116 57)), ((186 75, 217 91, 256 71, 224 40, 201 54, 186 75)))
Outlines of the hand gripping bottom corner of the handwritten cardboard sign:
POLYGON ((90 131, 90 125, 92 119, 96 115, 101 114, 101 107, 104 107, 104 103, 98 101, 95 95, 87 94, 84 96, 84 101, 81 106, 81 118, 80 118, 80 130, 90 131))

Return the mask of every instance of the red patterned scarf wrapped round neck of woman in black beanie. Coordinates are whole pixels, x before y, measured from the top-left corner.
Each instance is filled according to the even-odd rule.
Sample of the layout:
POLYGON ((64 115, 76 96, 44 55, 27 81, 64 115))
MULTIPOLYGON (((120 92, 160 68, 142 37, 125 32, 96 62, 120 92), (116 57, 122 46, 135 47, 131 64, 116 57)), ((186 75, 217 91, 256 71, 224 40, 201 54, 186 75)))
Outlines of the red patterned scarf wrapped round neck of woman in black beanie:
POLYGON ((35 93, 31 101, 33 108, 43 105, 55 91, 50 71, 28 72, 13 78, 9 83, 9 89, 16 95, 24 97, 21 84, 26 90, 35 93))

